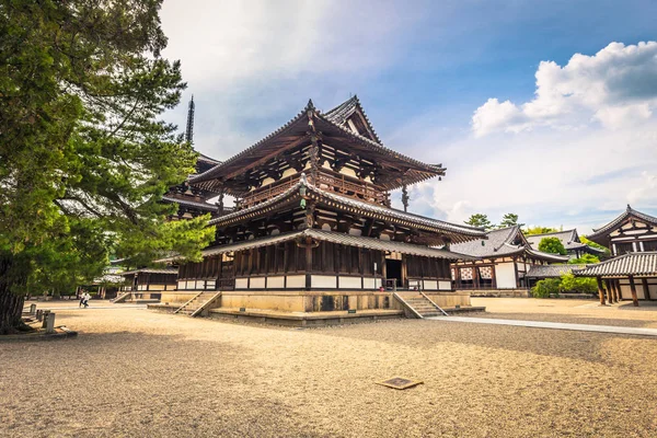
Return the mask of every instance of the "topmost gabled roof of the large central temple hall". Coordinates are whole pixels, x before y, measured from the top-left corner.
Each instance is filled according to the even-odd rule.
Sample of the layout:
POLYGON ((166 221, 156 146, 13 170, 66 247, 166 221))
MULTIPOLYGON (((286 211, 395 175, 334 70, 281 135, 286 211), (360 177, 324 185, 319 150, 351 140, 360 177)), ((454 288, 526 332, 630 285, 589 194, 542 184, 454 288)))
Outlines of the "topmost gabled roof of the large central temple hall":
POLYGON ((364 160, 364 164, 371 168, 372 182, 388 191, 445 174, 440 164, 423 163, 384 147, 357 97, 351 97, 326 114, 309 101, 306 108, 283 127, 189 182, 201 188, 222 187, 227 194, 243 196, 258 177, 277 171, 272 165, 274 162, 303 160, 306 153, 293 153, 293 149, 307 142, 311 132, 316 132, 325 153, 332 154, 335 161, 364 160))

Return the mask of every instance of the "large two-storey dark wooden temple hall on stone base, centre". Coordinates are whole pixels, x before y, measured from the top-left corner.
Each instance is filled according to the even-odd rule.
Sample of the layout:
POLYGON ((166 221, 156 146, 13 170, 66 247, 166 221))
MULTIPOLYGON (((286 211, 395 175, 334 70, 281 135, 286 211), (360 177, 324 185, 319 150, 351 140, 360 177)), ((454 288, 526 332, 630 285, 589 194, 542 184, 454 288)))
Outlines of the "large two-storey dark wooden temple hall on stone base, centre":
POLYGON ((310 101, 273 134, 188 180, 233 196, 235 208, 219 205, 203 262, 163 261, 181 263, 178 297, 188 293, 195 311, 211 299, 214 314, 397 314, 404 300, 394 292, 415 289, 433 304, 468 306, 469 295, 453 291, 450 264, 471 257, 450 247, 484 231, 406 212, 407 197, 404 210, 390 206, 391 191, 445 171, 383 146, 356 96, 326 113, 310 101))

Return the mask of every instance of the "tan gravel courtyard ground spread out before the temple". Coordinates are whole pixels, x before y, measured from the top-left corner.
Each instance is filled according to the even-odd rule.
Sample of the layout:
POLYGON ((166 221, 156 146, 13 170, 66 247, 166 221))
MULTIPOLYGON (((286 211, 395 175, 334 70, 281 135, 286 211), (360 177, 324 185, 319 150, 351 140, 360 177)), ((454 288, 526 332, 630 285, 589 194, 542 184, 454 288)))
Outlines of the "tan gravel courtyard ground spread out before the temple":
MULTIPOLYGON (((532 312, 538 300, 520 301, 532 312)), ((78 338, 0 344, 1 437, 654 437, 657 430, 652 338, 417 320, 293 330, 94 304, 57 311, 58 323, 79 331, 78 338), (424 384, 406 391, 374 384, 394 376, 424 384)), ((563 313, 596 313, 576 306, 564 304, 563 313)), ((649 312, 633 314, 657 321, 649 312)))

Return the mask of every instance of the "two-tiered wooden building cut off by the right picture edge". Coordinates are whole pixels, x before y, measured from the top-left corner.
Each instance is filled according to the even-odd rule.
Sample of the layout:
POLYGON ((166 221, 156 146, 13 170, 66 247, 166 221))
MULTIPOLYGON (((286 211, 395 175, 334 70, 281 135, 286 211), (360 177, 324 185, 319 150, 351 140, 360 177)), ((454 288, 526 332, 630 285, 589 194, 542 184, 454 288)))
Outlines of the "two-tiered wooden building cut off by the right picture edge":
POLYGON ((627 205, 625 211, 588 239, 610 249, 612 258, 574 270, 598 280, 600 303, 657 300, 657 218, 627 205))

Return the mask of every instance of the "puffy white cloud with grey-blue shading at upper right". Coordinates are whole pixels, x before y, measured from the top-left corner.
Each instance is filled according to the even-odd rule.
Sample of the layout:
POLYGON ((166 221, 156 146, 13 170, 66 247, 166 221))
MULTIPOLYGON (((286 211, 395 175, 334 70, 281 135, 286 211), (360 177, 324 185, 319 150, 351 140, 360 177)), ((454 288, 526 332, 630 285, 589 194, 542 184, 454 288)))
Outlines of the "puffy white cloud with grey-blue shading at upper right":
POLYGON ((542 61, 533 100, 523 104, 489 99, 472 116, 476 137, 537 127, 610 129, 638 126, 657 107, 657 42, 611 43, 593 56, 575 54, 566 66, 542 61))

